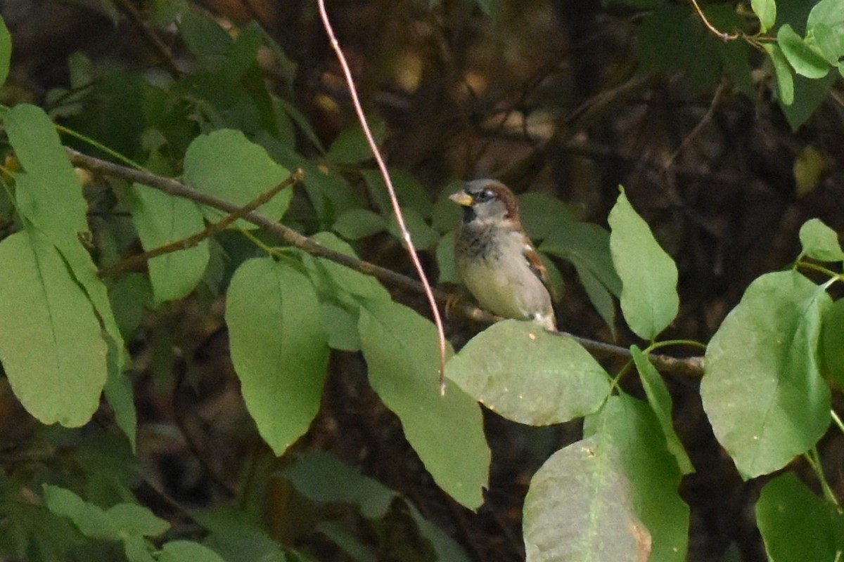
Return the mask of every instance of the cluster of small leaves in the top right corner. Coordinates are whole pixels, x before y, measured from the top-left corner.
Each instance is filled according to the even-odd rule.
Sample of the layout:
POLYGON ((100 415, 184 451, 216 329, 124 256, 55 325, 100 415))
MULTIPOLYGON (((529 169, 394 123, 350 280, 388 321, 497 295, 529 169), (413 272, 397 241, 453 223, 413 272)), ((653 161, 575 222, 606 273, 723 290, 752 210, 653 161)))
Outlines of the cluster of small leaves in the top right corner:
POLYGON ((663 0, 614 3, 649 11, 639 29, 642 66, 649 71, 683 72, 692 94, 710 90, 726 75, 738 91, 754 98, 758 62, 752 54, 765 52, 777 101, 794 129, 818 109, 836 76, 844 72, 844 8, 837 0, 753 0, 753 14, 708 3, 702 17, 722 37, 706 29, 690 6, 663 0))

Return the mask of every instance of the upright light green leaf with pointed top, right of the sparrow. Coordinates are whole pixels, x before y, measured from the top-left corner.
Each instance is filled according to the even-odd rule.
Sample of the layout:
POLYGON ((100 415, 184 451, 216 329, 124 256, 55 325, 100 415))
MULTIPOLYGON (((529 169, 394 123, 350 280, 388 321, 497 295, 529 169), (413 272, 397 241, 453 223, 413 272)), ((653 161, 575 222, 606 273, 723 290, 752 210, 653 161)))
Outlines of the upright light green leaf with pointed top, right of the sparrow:
POLYGON ((621 278, 621 311, 636 335, 653 340, 677 316, 677 265, 630 206, 624 191, 608 220, 609 249, 621 278))

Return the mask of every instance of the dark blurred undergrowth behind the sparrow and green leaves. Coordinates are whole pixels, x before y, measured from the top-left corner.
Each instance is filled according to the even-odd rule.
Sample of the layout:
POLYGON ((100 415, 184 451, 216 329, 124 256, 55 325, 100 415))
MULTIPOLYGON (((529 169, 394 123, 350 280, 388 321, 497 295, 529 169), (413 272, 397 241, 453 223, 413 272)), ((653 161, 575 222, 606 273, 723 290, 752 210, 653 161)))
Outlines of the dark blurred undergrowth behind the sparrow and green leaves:
MULTIPOLYGON (((6 103, 51 108, 59 122, 137 156, 142 142, 132 120, 139 115, 138 76, 189 73, 196 64, 189 38, 179 25, 156 19, 166 10, 153 9, 154 4, 3 2, 0 13, 14 40, 6 103), (163 41, 165 56, 144 29, 163 41), (100 70, 115 72, 100 74, 111 78, 95 86, 97 103, 89 98, 81 108, 68 107, 63 104, 73 95, 72 75, 80 67, 68 64, 68 56, 79 51, 100 70), (56 88, 71 89, 57 97, 56 88)), ((316 3, 198 4, 225 27, 257 22, 280 45, 286 58, 264 47, 258 51, 258 79, 304 116, 319 142, 328 146, 354 126, 316 3)), ((781 5, 804 9, 797 0, 781 5)), ((679 267, 682 307, 668 338, 708 341, 750 281, 788 265, 799 253, 798 229, 808 218, 820 217, 838 231, 844 227, 841 80, 794 131, 776 102, 764 53, 743 43, 726 46, 685 3, 337 0, 327 8, 365 108, 371 119, 383 121, 383 150, 391 168, 419 179, 432 198, 448 192, 454 180, 495 177, 517 193, 565 201, 576 217, 605 225, 618 185, 624 185, 679 267), (740 52, 722 56, 721 49, 740 52), (738 61, 738 70, 725 67, 725 61, 738 61)), ((737 13, 735 3, 707 3, 706 8, 713 21, 717 14, 732 18, 737 13)), ((171 122, 185 131, 168 134, 174 145, 178 139, 187 145, 202 120, 188 109, 173 112, 180 110, 187 119, 171 122)), ((314 141, 302 129, 291 126, 290 134, 302 155, 317 158, 314 141)), ((342 172, 371 207, 375 201, 361 187, 360 175, 368 164, 360 160, 351 159, 342 172)), ((96 211, 92 205, 95 227, 96 211)), ((322 219, 297 194, 285 220, 313 233, 322 219)), ((227 251, 254 252, 234 235, 220 243, 227 251)), ((365 260, 413 275, 401 245, 387 233, 360 240, 355 249, 365 260)), ((425 261, 436 276, 433 253, 425 254, 425 261)), ((612 341, 613 332, 593 310, 573 268, 558 266, 565 280, 561 328, 612 341)), ((418 295, 397 291, 393 297, 426 314, 418 295)), ((222 297, 200 289, 183 301, 148 310, 129 342, 143 477, 127 480, 144 504, 181 523, 187 534, 192 527, 182 506, 246 506, 262 514, 268 534, 279 542, 316 559, 349 559, 313 532, 318 509, 284 479, 270 476, 289 463, 289 456, 274 458, 246 414, 221 302, 222 297)), ((478 326, 451 318, 447 329, 459 343, 478 326)), ((630 332, 619 330, 620 345, 634 341, 630 332)), ((360 354, 333 352, 321 412, 293 451, 333 452, 398 490, 472 559, 522 559, 527 483, 551 452, 577 438, 577 424, 527 428, 485 412, 493 467, 487 502, 473 514, 432 482, 365 377, 360 354)), ((641 392, 630 384, 630 392, 641 392)), ((750 511, 762 483, 744 483, 720 452, 697 383, 669 378, 668 384, 675 424, 697 468, 681 488, 692 513, 689 559, 766 559, 750 511)), ((90 468, 70 452, 102 448, 93 436, 110 425, 106 408, 67 442, 37 426, 6 385, 0 408, 4 474, 37 473, 46 466, 89 478, 83 474, 90 468)), ((840 438, 825 442, 824 449, 839 460, 840 438)), ((115 450, 108 455, 115 456, 115 450)), ((832 474, 833 485, 839 476, 832 474)), ((401 528, 412 527, 399 512, 403 509, 397 504, 376 523, 355 519, 358 537, 377 544, 380 559, 427 559, 424 548, 413 547, 417 532, 401 528)))

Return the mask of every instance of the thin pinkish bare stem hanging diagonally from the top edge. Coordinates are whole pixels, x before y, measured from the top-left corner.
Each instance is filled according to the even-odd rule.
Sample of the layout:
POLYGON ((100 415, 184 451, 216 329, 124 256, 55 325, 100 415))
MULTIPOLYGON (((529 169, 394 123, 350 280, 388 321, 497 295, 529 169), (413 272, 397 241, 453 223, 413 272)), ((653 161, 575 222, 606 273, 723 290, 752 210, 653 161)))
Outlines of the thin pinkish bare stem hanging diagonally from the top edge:
POLYGON ((352 71, 349 69, 349 63, 346 62, 346 56, 343 49, 340 48, 340 43, 334 35, 334 29, 331 22, 328 20, 328 13, 325 9, 325 0, 317 0, 319 6, 320 17, 322 18, 322 25, 325 27, 325 32, 328 35, 328 40, 334 52, 337 54, 337 60, 340 62, 340 67, 343 68, 343 74, 346 78, 346 83, 349 85, 349 94, 352 96, 352 104, 354 105, 354 112, 358 115, 360 126, 364 130, 366 142, 369 143, 372 155, 378 163, 378 169, 381 171, 381 177, 384 179, 384 185, 387 186, 387 192, 390 194, 390 202, 392 203, 392 214, 396 217, 396 223, 402 233, 404 244, 407 245, 410 260, 414 263, 416 273, 419 275, 419 280, 422 281, 422 286, 425 289, 425 297, 428 299, 430 312, 434 317, 434 324, 436 324, 437 335, 440 343, 440 394, 446 393, 446 330, 442 325, 442 318, 440 317, 440 308, 436 305, 436 297, 434 297, 434 290, 428 282, 428 277, 425 275, 425 268, 422 267, 422 262, 419 260, 419 254, 416 253, 413 240, 410 239, 410 231, 404 223, 404 216, 402 214, 402 207, 398 204, 396 198, 396 190, 392 187, 392 180, 387 171, 387 164, 384 163, 384 158, 381 157, 381 151, 378 150, 378 145, 375 138, 372 136, 369 124, 366 122, 366 115, 364 115, 363 107, 360 105, 357 88, 354 87, 354 78, 352 78, 352 71))

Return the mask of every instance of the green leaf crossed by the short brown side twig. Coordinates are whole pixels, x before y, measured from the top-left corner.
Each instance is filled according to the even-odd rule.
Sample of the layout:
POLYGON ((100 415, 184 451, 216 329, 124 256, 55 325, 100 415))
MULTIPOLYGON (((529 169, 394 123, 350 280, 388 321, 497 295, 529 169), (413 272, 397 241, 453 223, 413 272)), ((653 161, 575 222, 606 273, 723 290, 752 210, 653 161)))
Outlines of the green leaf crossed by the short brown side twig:
MULTIPOLYGON (((130 210, 144 251, 183 240, 203 231, 202 212, 197 204, 179 197, 132 185, 130 210)), ((203 278, 210 259, 208 240, 192 248, 160 255, 149 260, 156 304, 185 297, 203 278)))

